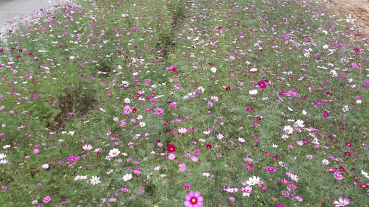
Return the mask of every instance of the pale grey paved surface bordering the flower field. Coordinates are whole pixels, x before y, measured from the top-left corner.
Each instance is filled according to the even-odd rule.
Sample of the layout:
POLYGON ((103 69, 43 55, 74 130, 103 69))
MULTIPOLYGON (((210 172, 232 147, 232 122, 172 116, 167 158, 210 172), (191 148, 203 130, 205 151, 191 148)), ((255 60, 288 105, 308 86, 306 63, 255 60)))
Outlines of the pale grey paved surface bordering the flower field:
POLYGON ((48 6, 53 6, 57 0, 0 0, 0 37, 6 28, 10 25, 9 22, 19 23, 21 19, 30 17, 42 9, 47 9, 48 6), (8 21, 8 22, 7 22, 8 21))

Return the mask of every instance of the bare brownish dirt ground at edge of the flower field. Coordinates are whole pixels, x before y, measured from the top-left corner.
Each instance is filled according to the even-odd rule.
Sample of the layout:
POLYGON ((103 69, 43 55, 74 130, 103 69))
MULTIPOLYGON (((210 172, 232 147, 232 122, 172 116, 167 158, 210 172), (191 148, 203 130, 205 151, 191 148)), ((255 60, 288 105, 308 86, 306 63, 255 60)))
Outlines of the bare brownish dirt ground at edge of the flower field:
POLYGON ((321 5, 332 10, 341 19, 346 19, 348 14, 355 19, 354 23, 359 34, 369 38, 369 0, 318 0, 321 5))

